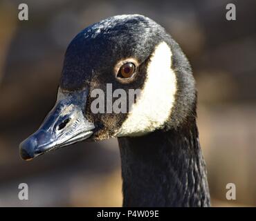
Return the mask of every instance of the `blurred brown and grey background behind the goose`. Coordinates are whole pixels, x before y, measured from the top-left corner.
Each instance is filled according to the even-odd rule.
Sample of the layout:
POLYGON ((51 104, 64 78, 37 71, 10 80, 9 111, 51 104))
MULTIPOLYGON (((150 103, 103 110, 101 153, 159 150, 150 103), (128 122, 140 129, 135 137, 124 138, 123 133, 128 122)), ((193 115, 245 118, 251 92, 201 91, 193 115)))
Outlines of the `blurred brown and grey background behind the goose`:
POLYGON ((0 206, 121 206, 117 140, 23 162, 18 145, 55 103, 68 42, 120 14, 161 23, 191 61, 212 206, 256 206, 256 1, 0 1, 0 206), (19 21, 27 3, 29 20, 19 21), (226 20, 226 4, 237 21, 226 20), (18 184, 29 200, 18 200, 18 184), (235 183, 237 200, 226 200, 235 183))

